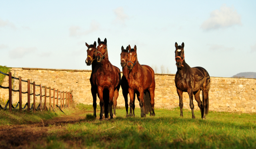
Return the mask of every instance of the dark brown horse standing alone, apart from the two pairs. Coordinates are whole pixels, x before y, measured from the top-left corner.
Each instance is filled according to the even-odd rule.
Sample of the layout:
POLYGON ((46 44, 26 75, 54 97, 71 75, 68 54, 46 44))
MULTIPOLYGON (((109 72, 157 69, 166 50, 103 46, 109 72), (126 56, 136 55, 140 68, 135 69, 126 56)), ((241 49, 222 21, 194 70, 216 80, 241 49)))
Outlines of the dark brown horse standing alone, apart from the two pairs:
POLYGON ((209 97, 208 92, 210 90, 210 75, 202 67, 193 67, 191 68, 185 62, 184 56, 184 43, 178 46, 178 43, 175 43, 175 61, 177 66, 177 72, 175 75, 175 86, 177 88, 177 93, 180 98, 180 117, 183 117, 182 108, 182 94, 183 92, 188 92, 189 95, 189 106, 192 110, 192 118, 196 118, 194 115, 194 104, 193 104, 193 94, 195 100, 198 103, 198 107, 201 111, 202 119, 205 119, 205 115, 209 112, 209 97), (203 104, 200 100, 200 91, 203 92, 203 104))

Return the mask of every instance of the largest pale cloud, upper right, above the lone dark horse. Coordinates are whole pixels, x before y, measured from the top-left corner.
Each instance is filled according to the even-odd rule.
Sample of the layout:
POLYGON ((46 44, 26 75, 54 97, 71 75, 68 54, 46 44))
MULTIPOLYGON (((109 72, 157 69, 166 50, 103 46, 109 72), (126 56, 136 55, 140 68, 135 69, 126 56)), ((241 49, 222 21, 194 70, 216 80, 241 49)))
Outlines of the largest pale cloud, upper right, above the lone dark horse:
POLYGON ((242 25, 241 16, 226 5, 220 7, 220 10, 214 10, 210 14, 210 18, 203 22, 201 28, 204 30, 227 28, 233 25, 242 25))

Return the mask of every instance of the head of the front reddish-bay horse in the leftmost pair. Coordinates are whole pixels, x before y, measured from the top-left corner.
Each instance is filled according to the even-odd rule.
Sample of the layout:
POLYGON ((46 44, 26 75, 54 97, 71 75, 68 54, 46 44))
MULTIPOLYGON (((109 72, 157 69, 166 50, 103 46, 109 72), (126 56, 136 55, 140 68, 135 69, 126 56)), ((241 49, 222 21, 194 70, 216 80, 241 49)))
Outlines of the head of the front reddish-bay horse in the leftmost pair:
POLYGON ((96 52, 96 59, 98 62, 102 61, 106 54, 108 53, 108 48, 107 48, 107 39, 104 39, 103 41, 100 41, 100 38, 98 38, 98 47, 97 47, 97 52, 96 52))

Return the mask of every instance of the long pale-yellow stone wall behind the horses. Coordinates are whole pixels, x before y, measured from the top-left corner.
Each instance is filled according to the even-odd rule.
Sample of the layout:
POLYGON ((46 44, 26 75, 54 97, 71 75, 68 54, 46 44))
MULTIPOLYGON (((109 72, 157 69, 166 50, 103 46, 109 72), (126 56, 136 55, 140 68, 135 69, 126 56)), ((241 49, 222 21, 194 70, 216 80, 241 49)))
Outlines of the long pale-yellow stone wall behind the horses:
MULTIPOLYGON (((64 69, 32 69, 32 68, 12 68, 12 76, 22 76, 23 80, 28 78, 36 84, 59 90, 73 90, 74 101, 76 103, 92 104, 90 91, 90 74, 88 70, 64 70, 64 69)), ((1 74, 2 75, 2 74, 1 74)), ((174 74, 156 74, 155 107, 175 108, 179 104, 178 94, 174 83, 174 74)), ((8 77, 4 79, 2 86, 8 86, 8 77)), ((22 91, 26 92, 27 84, 22 82, 22 91)), ((18 82, 15 88, 18 89, 18 82)), ((39 94, 39 87, 36 87, 36 94, 39 94)), ((44 92, 43 92, 44 94, 44 92)), ((48 91, 47 91, 48 95, 48 91)), ((202 99, 202 93, 201 93, 202 99)), ((251 78, 221 78, 211 77, 211 88, 209 92, 209 102, 211 111, 241 111, 256 112, 256 79, 251 78)), ((8 100, 8 89, 0 89, 1 100, 8 100)), ((26 103, 27 95, 22 95, 22 101, 26 103)), ((128 96, 128 100, 129 100, 128 96)), ((18 102, 18 92, 14 93, 14 102, 18 102)), ((39 96, 36 96, 39 102, 39 96)), ((122 88, 119 90, 117 106, 124 106, 122 88)), ((186 92, 183 94, 184 108, 190 109, 189 97, 186 92)), ((99 99, 97 99, 99 104, 99 99)), ((197 102, 194 100, 195 109, 199 110, 197 102)), ((139 107, 136 99, 135 106, 139 107)))

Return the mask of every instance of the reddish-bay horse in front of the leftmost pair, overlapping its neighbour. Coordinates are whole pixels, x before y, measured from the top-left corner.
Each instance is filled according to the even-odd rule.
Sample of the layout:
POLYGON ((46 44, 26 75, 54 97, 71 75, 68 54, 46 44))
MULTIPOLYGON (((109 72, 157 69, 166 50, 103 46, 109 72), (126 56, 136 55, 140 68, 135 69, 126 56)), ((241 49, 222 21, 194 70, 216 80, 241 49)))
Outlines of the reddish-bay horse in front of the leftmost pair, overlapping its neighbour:
POLYGON ((96 85, 98 87, 98 96, 100 98, 100 120, 102 120, 102 107, 104 105, 105 109, 108 109, 105 110, 105 119, 108 119, 108 111, 110 111, 110 119, 112 119, 113 106, 114 117, 116 117, 116 100, 119 95, 121 73, 120 69, 112 65, 108 60, 108 48, 106 38, 104 39, 104 41, 100 41, 100 38, 98 38, 96 59, 98 62, 100 62, 100 67, 96 71, 96 85))

